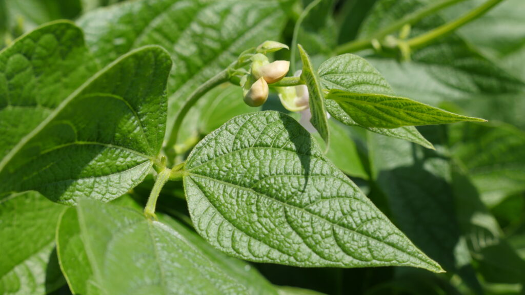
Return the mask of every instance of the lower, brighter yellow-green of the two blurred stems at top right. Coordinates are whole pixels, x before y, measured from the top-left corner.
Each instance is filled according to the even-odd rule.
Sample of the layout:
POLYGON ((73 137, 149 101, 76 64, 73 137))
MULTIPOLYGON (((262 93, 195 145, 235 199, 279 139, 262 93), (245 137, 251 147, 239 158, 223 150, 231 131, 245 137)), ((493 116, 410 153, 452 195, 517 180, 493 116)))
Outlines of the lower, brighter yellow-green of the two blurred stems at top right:
POLYGON ((412 39, 409 39, 407 41, 408 46, 411 49, 424 47, 425 45, 431 43, 435 39, 441 38, 447 34, 450 34, 455 29, 472 22, 472 20, 484 15, 487 13, 492 7, 496 6, 503 0, 489 0, 485 2, 483 5, 476 7, 475 9, 470 10, 469 13, 465 14, 464 16, 461 16, 459 18, 456 18, 452 22, 446 23, 442 26, 439 26, 435 29, 432 29, 428 31, 427 33, 423 35, 419 35, 417 37, 414 37, 412 39))

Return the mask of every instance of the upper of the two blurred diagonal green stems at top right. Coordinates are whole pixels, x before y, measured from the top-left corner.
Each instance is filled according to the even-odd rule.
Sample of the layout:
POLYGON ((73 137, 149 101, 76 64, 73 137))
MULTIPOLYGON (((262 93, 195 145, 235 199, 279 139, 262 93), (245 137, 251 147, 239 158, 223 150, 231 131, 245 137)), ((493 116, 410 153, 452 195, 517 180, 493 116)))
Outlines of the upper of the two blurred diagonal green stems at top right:
POLYGON ((407 14, 403 18, 397 20, 396 22, 392 23, 391 25, 377 31, 371 38, 367 39, 358 39, 354 41, 350 41, 349 43, 345 43, 340 45, 338 48, 335 49, 336 54, 344 54, 347 52, 355 52, 360 51, 363 49, 372 48, 372 40, 374 39, 382 39, 386 35, 393 33, 396 30, 401 29, 404 25, 409 24, 413 25, 422 18, 433 14, 445 7, 448 7, 450 5, 454 5, 459 2, 463 2, 465 0, 444 0, 440 2, 434 2, 431 3, 425 7, 422 7, 421 9, 416 10, 413 13, 407 14))

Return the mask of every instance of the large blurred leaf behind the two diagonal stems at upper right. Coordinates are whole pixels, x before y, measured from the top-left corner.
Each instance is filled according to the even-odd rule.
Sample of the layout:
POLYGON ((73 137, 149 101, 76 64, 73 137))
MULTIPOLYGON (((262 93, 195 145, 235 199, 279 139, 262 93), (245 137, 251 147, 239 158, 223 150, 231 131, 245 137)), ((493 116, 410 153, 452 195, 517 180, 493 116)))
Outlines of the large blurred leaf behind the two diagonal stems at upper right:
MULTIPOLYGON (((361 27, 360 37, 414 12, 427 3, 422 0, 381 0, 361 27)), ((412 26, 411 37, 444 24, 438 15, 427 16, 412 26)), ((442 101, 465 99, 472 95, 498 96, 525 89, 522 81, 481 56, 456 34, 412 53, 412 60, 398 62, 378 56, 366 57, 392 84, 397 94, 438 105, 442 101)))

